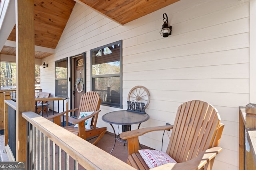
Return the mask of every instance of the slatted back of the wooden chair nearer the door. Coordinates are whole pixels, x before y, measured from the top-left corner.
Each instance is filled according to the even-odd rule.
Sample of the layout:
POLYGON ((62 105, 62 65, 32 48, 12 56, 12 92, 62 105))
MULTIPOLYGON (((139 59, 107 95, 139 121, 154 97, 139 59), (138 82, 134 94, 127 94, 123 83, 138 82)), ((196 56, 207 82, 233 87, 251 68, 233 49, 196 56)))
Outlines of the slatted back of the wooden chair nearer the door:
MULTIPOLYGON (((80 115, 80 112, 86 112, 86 111, 97 111, 100 109, 100 95, 97 92, 86 92, 82 95, 79 109, 78 109, 78 116, 80 115)), ((91 126, 96 128, 96 122, 98 119, 98 114, 92 118, 91 126)))

